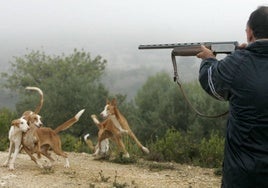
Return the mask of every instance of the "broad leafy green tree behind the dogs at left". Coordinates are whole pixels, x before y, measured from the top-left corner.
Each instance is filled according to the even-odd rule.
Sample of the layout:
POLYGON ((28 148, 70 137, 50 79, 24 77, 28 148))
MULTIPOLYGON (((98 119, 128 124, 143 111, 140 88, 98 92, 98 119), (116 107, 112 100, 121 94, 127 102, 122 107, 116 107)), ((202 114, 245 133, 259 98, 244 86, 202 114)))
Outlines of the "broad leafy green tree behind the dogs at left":
POLYGON ((56 127, 73 117, 79 110, 86 109, 79 125, 70 130, 75 135, 89 129, 90 114, 100 111, 108 91, 100 83, 106 60, 101 56, 91 58, 85 51, 74 50, 66 56, 49 56, 44 52, 31 51, 11 62, 10 74, 2 74, 5 87, 19 93, 16 105, 18 114, 34 110, 39 102, 38 94, 25 91, 26 86, 36 86, 44 92, 44 106, 40 114, 50 127, 56 127))

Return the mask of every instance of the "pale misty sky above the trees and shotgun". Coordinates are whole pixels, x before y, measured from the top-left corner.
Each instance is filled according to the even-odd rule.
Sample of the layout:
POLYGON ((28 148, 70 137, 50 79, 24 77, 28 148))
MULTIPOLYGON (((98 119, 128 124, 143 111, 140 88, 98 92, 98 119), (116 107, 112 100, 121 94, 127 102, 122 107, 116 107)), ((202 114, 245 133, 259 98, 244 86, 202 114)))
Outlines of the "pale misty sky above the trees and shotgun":
MULTIPOLYGON (((139 44, 245 42, 249 14, 267 0, 0 0, 0 60, 74 48, 111 65, 149 53, 139 44)), ((163 53, 162 53, 163 55, 163 53)), ((170 54, 166 56, 170 58, 170 54)), ((2 62, 4 61, 4 62, 2 62)), ((146 60, 148 61, 148 59, 146 60)))

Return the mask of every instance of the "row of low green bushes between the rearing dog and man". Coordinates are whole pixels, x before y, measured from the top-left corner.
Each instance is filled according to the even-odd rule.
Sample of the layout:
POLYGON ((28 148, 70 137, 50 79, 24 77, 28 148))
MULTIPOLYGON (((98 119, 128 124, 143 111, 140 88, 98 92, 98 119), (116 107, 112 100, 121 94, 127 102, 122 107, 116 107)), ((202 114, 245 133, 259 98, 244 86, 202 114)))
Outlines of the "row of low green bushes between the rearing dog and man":
POLYGON ((212 132, 209 139, 195 140, 191 133, 168 129, 166 134, 150 144, 148 160, 192 163, 203 167, 221 167, 224 138, 212 132))

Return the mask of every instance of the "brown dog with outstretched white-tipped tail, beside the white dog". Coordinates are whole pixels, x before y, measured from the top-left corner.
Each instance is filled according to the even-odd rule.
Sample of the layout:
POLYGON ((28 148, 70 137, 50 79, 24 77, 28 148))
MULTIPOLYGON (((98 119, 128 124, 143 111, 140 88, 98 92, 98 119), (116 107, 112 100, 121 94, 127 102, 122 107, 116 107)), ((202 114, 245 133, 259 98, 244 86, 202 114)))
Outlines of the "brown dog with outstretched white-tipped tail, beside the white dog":
POLYGON ((50 156, 50 153, 48 152, 49 149, 52 149, 55 154, 65 158, 64 167, 70 167, 68 156, 61 149, 61 140, 58 133, 68 129, 74 123, 76 123, 79 120, 80 116, 84 113, 84 111, 85 109, 80 110, 73 118, 64 122, 54 130, 48 127, 38 128, 36 126, 36 114, 31 114, 27 117, 26 120, 28 122, 28 125, 30 126, 30 129, 23 134, 23 149, 40 168, 43 168, 43 166, 37 161, 33 154, 36 153, 38 157, 39 154, 42 154, 47 157, 52 163, 54 162, 54 159, 50 156))

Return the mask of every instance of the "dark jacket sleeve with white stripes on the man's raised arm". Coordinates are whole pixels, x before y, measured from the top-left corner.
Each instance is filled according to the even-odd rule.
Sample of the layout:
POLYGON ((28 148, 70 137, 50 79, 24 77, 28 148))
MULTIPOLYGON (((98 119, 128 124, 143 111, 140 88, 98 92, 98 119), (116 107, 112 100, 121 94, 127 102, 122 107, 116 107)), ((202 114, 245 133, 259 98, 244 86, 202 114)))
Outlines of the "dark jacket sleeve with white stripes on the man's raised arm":
POLYGON ((237 74, 236 55, 231 54, 222 60, 204 59, 200 65, 199 82, 202 88, 217 100, 229 100, 232 81, 237 74))

